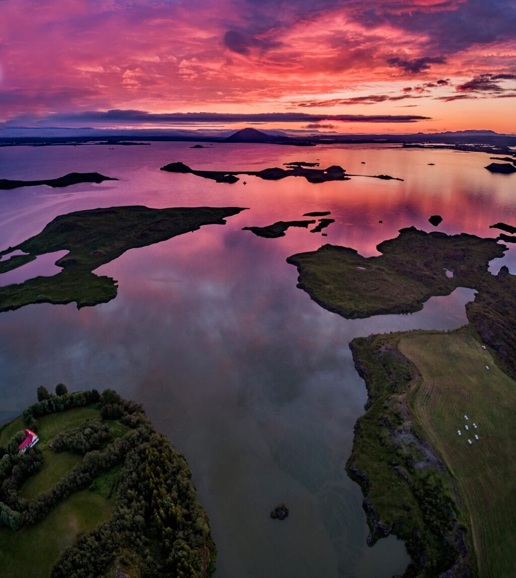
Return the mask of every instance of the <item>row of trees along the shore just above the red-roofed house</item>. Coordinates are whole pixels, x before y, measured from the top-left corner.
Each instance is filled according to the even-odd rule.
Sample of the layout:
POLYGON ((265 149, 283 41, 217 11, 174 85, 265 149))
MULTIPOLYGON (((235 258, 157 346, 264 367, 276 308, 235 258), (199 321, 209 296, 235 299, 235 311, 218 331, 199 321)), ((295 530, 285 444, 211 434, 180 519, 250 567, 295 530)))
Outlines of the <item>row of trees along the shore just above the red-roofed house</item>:
POLYGON ((38 421, 36 417, 46 416, 55 412, 64 412, 66 409, 70 409, 70 407, 90 405, 90 403, 96 403, 100 399, 100 394, 97 390, 77 391, 76 393, 69 394, 66 386, 63 384, 59 384, 55 390, 60 391, 60 394, 51 395, 45 387, 38 387, 38 402, 24 409, 22 414, 23 421, 32 431, 38 431, 38 421), (60 386, 62 387, 60 388, 60 386))

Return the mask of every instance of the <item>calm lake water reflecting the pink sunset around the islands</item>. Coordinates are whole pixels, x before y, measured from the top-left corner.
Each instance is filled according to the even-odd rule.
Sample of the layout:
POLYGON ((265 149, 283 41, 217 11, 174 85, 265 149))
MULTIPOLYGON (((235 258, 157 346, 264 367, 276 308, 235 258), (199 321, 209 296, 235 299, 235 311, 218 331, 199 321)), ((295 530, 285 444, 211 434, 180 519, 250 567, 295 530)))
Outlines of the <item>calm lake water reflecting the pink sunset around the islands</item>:
MULTIPOLYGON (((474 292, 459 288, 411 315, 350 321, 296 288, 296 269, 285 259, 324 243, 376 255, 376 245, 402 227, 436 230, 428 223, 432 214, 443 216, 439 231, 495 236, 489 225, 516 224, 516 176, 489 173, 483 168, 488 155, 481 153, 370 145, 190 146, 0 149, 0 178, 97 171, 120 179, 1 191, 2 249, 73 210, 135 204, 249 208, 226 225, 129 250, 97 269, 118 280, 118 296, 109 303, 81 310, 31 305, 0 314, 0 420, 34 402, 41 384, 116 388, 142 402, 187 457, 218 547, 217 578, 402 573, 409 561, 403 543, 391 537, 367 547, 361 491, 344 468, 366 402, 348 343, 373 332, 459 327, 474 292), (222 171, 317 161, 404 181, 356 177, 310 184, 299 177, 245 177, 245 186, 244 178, 217 184, 159 171, 174 161, 222 171), (299 220, 314 210, 330 210, 335 218, 324 229, 327 237, 299 228, 279 239, 242 231, 299 220), (270 520, 280 502, 290 509, 288 520, 270 520)), ((55 258, 27 264, 33 268, 28 276, 52 275, 55 258)), ((502 264, 515 271, 514 249, 493 261, 491 271, 502 264)), ((0 285, 26 278, 23 269, 19 277, 5 273, 5 281, 0 275, 0 285)))

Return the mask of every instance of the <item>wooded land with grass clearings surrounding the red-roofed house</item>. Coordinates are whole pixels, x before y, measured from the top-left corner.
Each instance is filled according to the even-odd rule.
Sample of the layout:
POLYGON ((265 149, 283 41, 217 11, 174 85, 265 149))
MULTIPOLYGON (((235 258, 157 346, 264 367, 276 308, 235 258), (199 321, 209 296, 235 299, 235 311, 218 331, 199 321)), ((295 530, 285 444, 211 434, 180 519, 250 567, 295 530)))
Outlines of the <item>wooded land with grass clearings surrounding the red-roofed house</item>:
POLYGON ((0 427, 2 578, 211 576, 183 455, 117 392, 57 391, 0 427), (24 428, 39 443, 22 453, 24 428))

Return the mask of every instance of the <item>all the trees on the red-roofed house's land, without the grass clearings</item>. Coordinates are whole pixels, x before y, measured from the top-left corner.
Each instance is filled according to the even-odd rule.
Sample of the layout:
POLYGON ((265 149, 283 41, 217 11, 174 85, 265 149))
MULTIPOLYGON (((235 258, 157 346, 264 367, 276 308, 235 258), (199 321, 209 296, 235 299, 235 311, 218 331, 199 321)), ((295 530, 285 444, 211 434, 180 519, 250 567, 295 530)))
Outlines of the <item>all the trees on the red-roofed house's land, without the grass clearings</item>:
POLYGON ((92 448, 101 447, 112 431, 101 421, 87 421, 61 433, 54 440, 55 449, 80 451, 83 461, 50 490, 31 500, 21 498, 17 490, 41 466, 41 452, 37 448, 25 454, 6 451, 0 457, 0 524, 12 529, 34 524, 70 494, 90 486, 99 474, 123 463, 112 517, 79 535, 61 554, 52 578, 102 575, 116 551, 128 545, 139 554, 144 578, 211 576, 216 549, 206 513, 196 499, 190 468, 169 440, 154 430, 142 406, 122 399, 113 390, 102 395, 95 391, 61 391, 49 397, 44 397, 44 391, 38 394, 38 403, 24 412, 28 420, 99 402, 104 419, 118 416, 131 431, 102 450, 92 448), (63 402, 64 409, 57 400, 63 402), (157 554, 155 544, 161 546, 161 554, 157 554))

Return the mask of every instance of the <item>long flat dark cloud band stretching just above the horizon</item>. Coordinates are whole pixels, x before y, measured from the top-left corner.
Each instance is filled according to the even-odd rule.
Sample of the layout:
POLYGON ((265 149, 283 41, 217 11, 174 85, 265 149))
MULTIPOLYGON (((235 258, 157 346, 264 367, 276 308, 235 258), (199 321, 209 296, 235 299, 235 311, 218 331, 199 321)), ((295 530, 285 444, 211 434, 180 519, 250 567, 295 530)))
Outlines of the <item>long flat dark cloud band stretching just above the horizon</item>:
MULTIPOLYGON (((192 124, 192 123, 317 123, 319 121, 341 121, 352 123, 415 123, 419 120, 430 120, 430 117, 408 114, 308 114, 308 113, 258 113, 233 114, 211 112, 187 113, 149 113, 145 110, 92 110, 78 113, 52 113, 46 116, 23 117, 24 124, 59 125, 59 124, 192 124)), ((6 121, 4 126, 20 124, 20 117, 6 121)))

